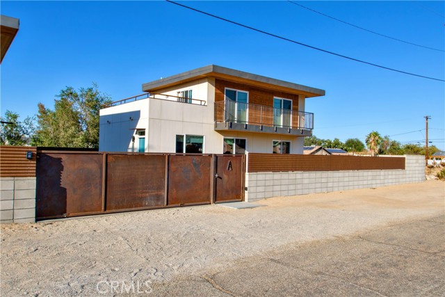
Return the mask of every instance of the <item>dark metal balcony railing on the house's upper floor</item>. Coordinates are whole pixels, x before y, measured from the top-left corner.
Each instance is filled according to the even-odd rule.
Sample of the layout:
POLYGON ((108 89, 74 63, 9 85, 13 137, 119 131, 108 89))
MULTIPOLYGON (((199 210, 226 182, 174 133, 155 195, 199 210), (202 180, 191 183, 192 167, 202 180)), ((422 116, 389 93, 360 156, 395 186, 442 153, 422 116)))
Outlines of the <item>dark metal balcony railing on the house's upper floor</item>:
POLYGON ((314 113, 225 100, 215 102, 215 122, 312 130, 314 113))

